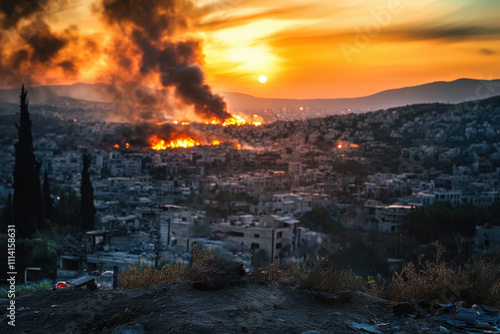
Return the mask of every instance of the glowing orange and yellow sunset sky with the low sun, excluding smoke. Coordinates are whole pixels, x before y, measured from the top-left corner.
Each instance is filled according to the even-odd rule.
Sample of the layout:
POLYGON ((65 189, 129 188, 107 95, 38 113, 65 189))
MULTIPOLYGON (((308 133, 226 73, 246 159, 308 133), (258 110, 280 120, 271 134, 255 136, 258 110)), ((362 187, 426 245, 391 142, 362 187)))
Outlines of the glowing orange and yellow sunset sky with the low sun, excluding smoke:
MULTIPOLYGON (((99 13, 102 2, 56 5, 45 22, 53 33, 91 36, 99 47, 109 49, 109 27, 99 13)), ((177 3, 177 10, 188 11, 189 19, 172 36, 201 41, 206 82, 218 92, 357 97, 432 81, 500 78, 498 0, 177 3), (261 75, 267 82, 259 81, 261 75)), ((62 64, 64 54, 77 52, 78 70, 65 68, 37 83, 103 81, 100 74, 109 67, 109 59, 98 56, 99 51, 84 56, 89 43, 81 38, 78 43, 61 48, 54 58, 62 64)))

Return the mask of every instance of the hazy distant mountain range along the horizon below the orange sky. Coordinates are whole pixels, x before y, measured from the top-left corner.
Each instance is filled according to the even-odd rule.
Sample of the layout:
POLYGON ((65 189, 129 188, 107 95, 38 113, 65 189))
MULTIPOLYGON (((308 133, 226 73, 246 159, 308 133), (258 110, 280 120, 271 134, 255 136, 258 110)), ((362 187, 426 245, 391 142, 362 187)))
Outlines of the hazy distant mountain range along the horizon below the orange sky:
MULTIPOLYGON (((98 102, 112 102, 115 91, 110 84, 85 84, 29 87, 32 103, 47 103, 57 96, 98 102)), ((500 95, 500 80, 459 79, 451 82, 439 81, 424 85, 391 89, 370 96, 345 99, 274 99, 259 98, 242 93, 225 92, 232 110, 259 110, 300 107, 313 110, 340 112, 366 112, 420 103, 460 103, 500 95)), ((0 90, 0 102, 18 103, 18 89, 0 90)))

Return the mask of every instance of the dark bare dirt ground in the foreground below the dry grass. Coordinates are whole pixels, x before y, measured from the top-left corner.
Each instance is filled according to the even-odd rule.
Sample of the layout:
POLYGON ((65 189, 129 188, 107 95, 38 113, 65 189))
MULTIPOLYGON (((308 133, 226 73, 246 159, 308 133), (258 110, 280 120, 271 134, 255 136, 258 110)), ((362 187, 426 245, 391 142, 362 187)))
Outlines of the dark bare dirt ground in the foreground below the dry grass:
POLYGON ((393 303, 362 292, 319 295, 248 279, 208 291, 188 282, 35 291, 16 299, 15 328, 7 324, 8 302, 0 300, 2 333, 125 333, 119 326, 137 324, 146 333, 440 333, 431 317, 396 316, 393 303))

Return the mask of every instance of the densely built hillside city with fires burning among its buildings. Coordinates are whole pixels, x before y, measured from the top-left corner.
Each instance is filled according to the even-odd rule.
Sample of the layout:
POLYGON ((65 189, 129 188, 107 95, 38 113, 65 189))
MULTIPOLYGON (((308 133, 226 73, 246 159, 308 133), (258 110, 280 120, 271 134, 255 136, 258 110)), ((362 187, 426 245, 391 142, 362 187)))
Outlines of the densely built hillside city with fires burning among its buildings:
MULTIPOLYGON (((51 186, 49 223, 65 235, 57 277, 144 258, 189 261, 195 244, 247 268, 323 256, 368 273, 391 273, 438 238, 460 239, 470 251, 500 249, 500 98, 259 126, 153 121, 151 131, 168 122, 167 130, 200 138, 163 149, 138 139, 133 122, 102 120, 107 108, 30 104, 34 153, 51 186), (96 218, 94 229, 79 231, 72 224, 83 152, 96 218), (451 221, 443 235, 446 226, 425 225, 433 211, 424 208, 482 214, 451 221)), ((19 106, 2 104, 0 119, 3 205, 13 193, 19 106)))

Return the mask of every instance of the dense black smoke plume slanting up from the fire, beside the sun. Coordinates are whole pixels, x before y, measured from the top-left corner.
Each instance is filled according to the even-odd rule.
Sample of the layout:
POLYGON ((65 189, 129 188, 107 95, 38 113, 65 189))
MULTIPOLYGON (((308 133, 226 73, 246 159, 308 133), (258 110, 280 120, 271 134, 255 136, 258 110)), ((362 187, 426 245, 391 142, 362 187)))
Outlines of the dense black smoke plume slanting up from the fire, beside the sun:
POLYGON ((197 15, 193 8, 182 0, 109 0, 102 14, 124 32, 133 26, 132 41, 142 54, 141 72, 157 72, 162 85, 175 88, 176 96, 203 118, 225 120, 231 117, 226 102, 205 84, 199 43, 172 41, 173 35, 189 28, 197 15))

